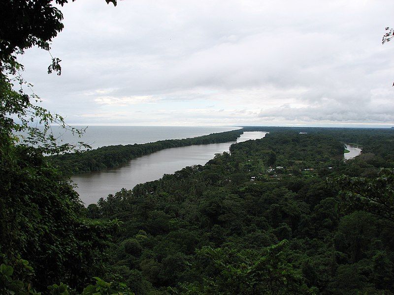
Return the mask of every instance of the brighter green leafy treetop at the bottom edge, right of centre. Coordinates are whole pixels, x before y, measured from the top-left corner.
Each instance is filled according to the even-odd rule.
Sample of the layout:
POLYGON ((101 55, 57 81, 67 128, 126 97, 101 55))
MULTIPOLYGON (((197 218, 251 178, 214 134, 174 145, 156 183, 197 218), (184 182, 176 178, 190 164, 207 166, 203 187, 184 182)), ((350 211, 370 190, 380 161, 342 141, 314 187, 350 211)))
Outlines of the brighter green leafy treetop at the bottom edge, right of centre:
POLYGON ((287 262, 287 240, 263 249, 238 252, 203 247, 197 251, 202 278, 181 284, 182 294, 314 294, 301 272, 287 262))

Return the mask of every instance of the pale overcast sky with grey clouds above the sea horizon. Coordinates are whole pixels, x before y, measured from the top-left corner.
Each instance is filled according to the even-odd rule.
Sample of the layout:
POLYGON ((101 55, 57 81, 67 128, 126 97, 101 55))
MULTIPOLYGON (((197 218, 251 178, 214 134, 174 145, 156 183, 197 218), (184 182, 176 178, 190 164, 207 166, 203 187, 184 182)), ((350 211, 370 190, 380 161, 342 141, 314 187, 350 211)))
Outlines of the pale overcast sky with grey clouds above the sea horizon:
POLYGON ((392 0, 76 0, 19 61, 71 125, 394 126, 392 0))

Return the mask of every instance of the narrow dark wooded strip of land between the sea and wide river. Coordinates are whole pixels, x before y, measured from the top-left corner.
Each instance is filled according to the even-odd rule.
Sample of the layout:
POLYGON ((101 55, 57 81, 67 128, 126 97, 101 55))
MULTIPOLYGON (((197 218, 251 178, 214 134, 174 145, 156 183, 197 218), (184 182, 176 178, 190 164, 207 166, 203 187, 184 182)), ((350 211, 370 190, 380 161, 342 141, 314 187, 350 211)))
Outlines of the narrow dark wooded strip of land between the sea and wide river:
POLYGON ((148 155, 165 148, 178 148, 192 145, 235 142, 243 133, 242 129, 212 133, 186 139, 161 140, 154 143, 108 146, 82 152, 64 153, 48 156, 48 161, 65 175, 89 173, 114 168, 131 159, 148 155))

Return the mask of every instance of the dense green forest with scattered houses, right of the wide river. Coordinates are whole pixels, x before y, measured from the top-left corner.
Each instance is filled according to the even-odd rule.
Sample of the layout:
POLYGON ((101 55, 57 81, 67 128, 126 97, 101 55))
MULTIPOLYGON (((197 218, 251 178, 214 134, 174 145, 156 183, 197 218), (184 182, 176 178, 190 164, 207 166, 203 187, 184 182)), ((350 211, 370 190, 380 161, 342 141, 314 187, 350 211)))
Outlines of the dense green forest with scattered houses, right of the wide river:
POLYGON ((326 131, 271 130, 90 205, 123 222, 101 275, 137 294, 392 294, 393 171, 379 171, 393 156, 372 153, 370 131, 368 154, 344 162, 326 131), (360 202, 365 190, 382 205, 360 202))

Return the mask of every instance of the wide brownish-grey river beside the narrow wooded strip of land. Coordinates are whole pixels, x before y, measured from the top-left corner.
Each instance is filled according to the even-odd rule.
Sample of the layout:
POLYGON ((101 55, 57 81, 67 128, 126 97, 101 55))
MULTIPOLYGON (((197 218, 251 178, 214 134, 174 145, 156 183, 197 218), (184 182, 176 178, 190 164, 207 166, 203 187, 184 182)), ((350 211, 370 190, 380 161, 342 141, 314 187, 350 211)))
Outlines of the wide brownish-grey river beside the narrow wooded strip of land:
MULTIPOLYGON (((266 132, 244 132, 237 140, 259 139, 266 132)), ((186 166, 204 165, 215 153, 229 151, 230 143, 167 148, 129 161, 127 164, 100 172, 71 177, 78 185, 75 189, 86 204, 97 203, 99 198, 114 194, 121 188, 132 189, 136 184, 161 178, 186 166)))

